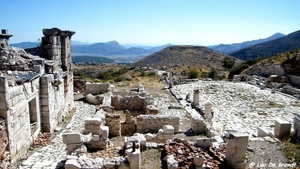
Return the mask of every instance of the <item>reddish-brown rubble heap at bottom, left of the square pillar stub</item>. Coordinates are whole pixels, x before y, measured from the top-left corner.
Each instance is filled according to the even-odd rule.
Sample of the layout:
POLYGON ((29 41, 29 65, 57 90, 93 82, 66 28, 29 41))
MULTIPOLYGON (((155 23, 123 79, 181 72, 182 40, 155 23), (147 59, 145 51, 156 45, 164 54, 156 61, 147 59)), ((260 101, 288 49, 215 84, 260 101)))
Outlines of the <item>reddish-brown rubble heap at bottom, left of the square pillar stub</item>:
POLYGON ((225 145, 219 148, 198 147, 193 142, 174 138, 164 145, 163 153, 174 156, 178 168, 226 168, 229 167, 225 159, 225 145))

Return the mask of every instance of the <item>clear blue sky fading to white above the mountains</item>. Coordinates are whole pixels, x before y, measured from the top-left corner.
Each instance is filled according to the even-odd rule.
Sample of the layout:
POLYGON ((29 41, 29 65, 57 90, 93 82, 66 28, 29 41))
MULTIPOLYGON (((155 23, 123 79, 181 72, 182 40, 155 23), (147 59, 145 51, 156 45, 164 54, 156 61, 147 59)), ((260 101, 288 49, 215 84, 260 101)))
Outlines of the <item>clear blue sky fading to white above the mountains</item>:
POLYGON ((43 28, 73 40, 121 44, 217 45, 300 30, 299 0, 0 0, 11 43, 37 41, 43 28))

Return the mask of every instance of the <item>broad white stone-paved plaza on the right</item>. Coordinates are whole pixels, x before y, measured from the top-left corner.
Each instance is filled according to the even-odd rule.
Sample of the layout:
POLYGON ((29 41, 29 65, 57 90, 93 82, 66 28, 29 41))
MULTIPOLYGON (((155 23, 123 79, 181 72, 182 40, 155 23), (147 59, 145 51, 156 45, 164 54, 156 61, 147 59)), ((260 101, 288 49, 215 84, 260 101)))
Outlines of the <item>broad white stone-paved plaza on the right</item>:
MULTIPOLYGON (((300 111, 300 101, 279 92, 271 93, 269 89, 261 90, 257 86, 244 82, 198 81, 173 86, 173 91, 182 98, 193 91, 200 90, 200 107, 208 102, 214 112, 213 122, 224 131, 246 132, 250 137, 257 135, 257 128, 263 127, 274 132, 276 119, 293 124, 295 113, 300 111)), ((186 106, 185 101, 181 101, 186 106)), ((189 110, 188 107, 186 107, 189 110)))

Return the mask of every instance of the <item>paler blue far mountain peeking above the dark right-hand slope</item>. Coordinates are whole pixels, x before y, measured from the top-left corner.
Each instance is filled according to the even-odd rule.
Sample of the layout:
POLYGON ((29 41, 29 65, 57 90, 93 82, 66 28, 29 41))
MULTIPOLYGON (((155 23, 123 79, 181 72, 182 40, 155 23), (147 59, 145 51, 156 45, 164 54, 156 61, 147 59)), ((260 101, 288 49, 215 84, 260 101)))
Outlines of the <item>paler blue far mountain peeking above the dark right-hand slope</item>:
POLYGON ((285 35, 282 33, 275 33, 274 35, 265 38, 265 39, 258 39, 258 40, 252 40, 252 41, 246 41, 242 43, 234 43, 234 44, 220 44, 220 45, 214 45, 214 46, 208 46, 211 49, 217 50, 222 53, 232 53, 234 51, 238 51, 259 43, 268 42, 274 39, 278 39, 281 37, 284 37, 285 35))

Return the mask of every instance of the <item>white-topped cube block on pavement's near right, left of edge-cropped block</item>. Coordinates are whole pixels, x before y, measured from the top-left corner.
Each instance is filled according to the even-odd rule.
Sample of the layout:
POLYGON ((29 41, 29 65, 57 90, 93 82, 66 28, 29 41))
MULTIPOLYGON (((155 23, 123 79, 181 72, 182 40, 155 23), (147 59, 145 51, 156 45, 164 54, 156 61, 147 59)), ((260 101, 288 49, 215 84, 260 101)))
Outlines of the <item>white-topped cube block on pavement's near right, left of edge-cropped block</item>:
POLYGON ((276 138, 282 139, 284 136, 291 133, 292 124, 280 119, 275 120, 274 134, 276 138))

